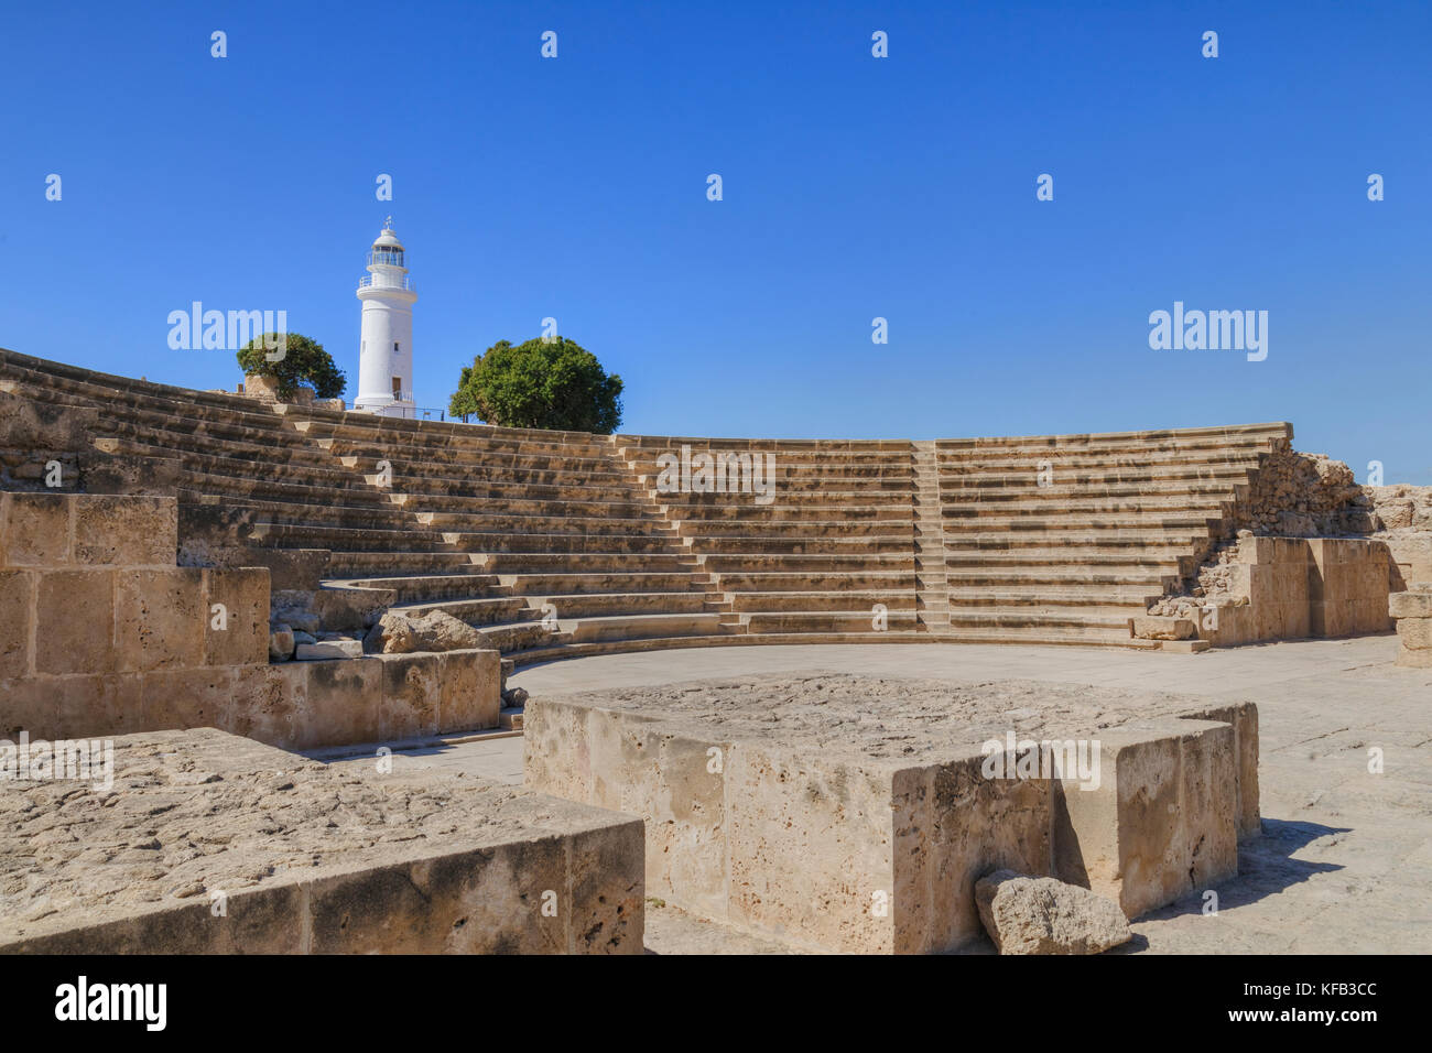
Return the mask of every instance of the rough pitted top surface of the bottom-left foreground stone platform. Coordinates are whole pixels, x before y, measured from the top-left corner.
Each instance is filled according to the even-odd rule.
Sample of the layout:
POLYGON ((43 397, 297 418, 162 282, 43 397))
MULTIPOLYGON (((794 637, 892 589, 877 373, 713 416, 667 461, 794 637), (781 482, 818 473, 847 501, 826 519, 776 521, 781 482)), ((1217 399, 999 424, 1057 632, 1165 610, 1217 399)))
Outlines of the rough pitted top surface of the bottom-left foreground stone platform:
MULTIPOLYGON (((339 875, 401 872, 420 861, 441 868, 444 857, 484 848, 495 855, 524 844, 556 848, 557 870, 547 867, 551 872, 540 877, 576 898, 566 855, 580 852, 564 842, 629 825, 610 812, 465 774, 398 766, 382 774, 371 756, 325 765, 213 729, 120 736, 109 791, 73 781, 0 784, 0 944, 162 908, 208 907, 215 893, 315 887, 339 875)), ((634 870, 603 861, 604 845, 593 847, 591 860, 607 864, 594 874, 599 883, 632 885, 634 875, 627 907, 640 897, 640 832, 633 832, 624 848, 636 850, 634 870)), ((536 918, 543 890, 523 888, 521 874, 500 870, 505 877, 498 880, 524 901, 507 904, 503 924, 517 910, 536 918)), ((312 895, 316 913, 319 893, 312 895)), ((368 895, 351 910, 374 903, 368 895)), ((580 904, 563 910, 570 915, 580 904)), ((401 918, 395 910, 391 921, 401 918)))

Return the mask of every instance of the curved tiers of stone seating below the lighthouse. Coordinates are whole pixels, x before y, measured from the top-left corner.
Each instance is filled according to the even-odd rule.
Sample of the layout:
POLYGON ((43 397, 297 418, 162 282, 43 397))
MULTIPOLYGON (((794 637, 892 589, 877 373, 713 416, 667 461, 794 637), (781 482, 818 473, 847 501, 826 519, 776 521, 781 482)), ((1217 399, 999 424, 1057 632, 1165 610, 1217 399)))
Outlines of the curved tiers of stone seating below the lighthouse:
POLYGON ((182 530, 228 530, 274 567, 316 550, 324 589, 444 610, 518 663, 790 642, 1157 648, 1128 619, 1194 573, 1292 441, 1287 424, 591 436, 262 404, 9 351, 0 388, 86 407, 80 486, 173 494, 182 530), (683 447, 769 456, 769 501, 670 491, 664 456, 683 447))

